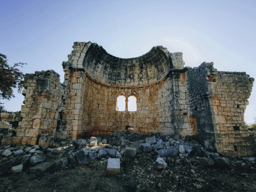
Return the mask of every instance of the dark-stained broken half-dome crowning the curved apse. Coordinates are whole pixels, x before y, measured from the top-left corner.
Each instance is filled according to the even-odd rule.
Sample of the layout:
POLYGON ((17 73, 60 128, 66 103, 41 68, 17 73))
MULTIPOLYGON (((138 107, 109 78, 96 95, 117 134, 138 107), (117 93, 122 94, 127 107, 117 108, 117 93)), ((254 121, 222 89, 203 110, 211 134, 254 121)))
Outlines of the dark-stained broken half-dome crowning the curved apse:
POLYGON ((72 67, 83 68, 87 75, 103 84, 143 86, 168 75, 172 65, 169 55, 166 48, 156 46, 142 56, 123 59, 110 55, 97 43, 88 42, 71 62, 72 67))

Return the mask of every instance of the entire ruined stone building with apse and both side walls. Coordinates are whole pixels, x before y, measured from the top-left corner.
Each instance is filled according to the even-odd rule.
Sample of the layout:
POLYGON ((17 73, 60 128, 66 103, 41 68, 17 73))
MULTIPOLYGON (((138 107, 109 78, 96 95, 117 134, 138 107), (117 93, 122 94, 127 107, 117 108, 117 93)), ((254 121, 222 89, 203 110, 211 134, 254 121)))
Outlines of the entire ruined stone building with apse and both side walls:
POLYGON ((175 139, 197 135, 203 146, 234 156, 254 153, 244 121, 254 79, 245 72, 217 71, 212 62, 184 67, 182 53, 163 46, 130 59, 91 42, 73 48, 62 63, 63 84, 53 70, 26 74, 22 121, 2 143, 48 146, 132 127, 175 139), (124 111, 117 107, 121 96, 124 111), (130 97, 136 111, 129 110, 130 97))

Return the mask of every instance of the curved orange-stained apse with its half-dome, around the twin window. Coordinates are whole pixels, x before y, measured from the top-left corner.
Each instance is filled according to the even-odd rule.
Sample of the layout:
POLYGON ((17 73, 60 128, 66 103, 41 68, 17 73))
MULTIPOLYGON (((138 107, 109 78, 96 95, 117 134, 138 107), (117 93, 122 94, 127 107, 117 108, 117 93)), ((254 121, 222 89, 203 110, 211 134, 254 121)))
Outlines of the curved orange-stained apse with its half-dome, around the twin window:
POLYGON ((173 81, 169 75, 172 69, 184 68, 181 52, 155 46, 142 56, 122 59, 96 43, 75 42, 73 48, 62 66, 66 85, 77 89, 70 90, 69 100, 78 104, 71 102, 67 113, 73 113, 68 110, 76 106, 81 110, 74 115, 78 126, 71 130, 78 137, 111 134, 126 126, 145 133, 173 133, 173 81), (126 98, 136 95, 137 111, 116 111, 119 94, 126 98))

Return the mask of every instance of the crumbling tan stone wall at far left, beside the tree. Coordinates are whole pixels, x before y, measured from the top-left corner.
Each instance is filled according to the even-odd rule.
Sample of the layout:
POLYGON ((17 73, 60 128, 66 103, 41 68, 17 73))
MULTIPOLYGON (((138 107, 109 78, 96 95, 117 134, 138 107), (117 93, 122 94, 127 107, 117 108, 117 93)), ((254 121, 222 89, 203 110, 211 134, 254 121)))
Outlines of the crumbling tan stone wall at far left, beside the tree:
POLYGON ((2 142, 35 145, 39 142, 40 134, 48 134, 48 141, 51 143, 59 112, 64 108, 63 100, 67 99, 65 86, 60 83, 58 73, 53 70, 26 74, 23 85, 25 100, 21 109, 22 121, 15 130, 17 135, 4 138, 2 142))

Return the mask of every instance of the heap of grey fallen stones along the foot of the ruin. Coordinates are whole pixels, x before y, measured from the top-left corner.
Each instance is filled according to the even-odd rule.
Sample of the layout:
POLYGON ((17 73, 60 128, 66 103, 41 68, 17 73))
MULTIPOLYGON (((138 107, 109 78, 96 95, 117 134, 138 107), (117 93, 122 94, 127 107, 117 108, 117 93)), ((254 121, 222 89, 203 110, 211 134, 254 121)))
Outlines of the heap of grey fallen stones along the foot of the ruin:
POLYGON ((38 145, 1 146, 0 176, 22 172, 42 174, 53 168, 97 164, 105 174, 136 178, 140 183, 136 186, 138 191, 157 191, 157 187, 175 191, 175 183, 185 183, 191 189, 207 186, 206 173, 197 172, 198 168, 212 167, 231 172, 238 167, 256 168, 256 157, 234 157, 207 151, 196 140, 189 140, 174 140, 172 135, 161 136, 160 133, 148 136, 119 130, 111 136, 56 142, 48 149, 38 145))

